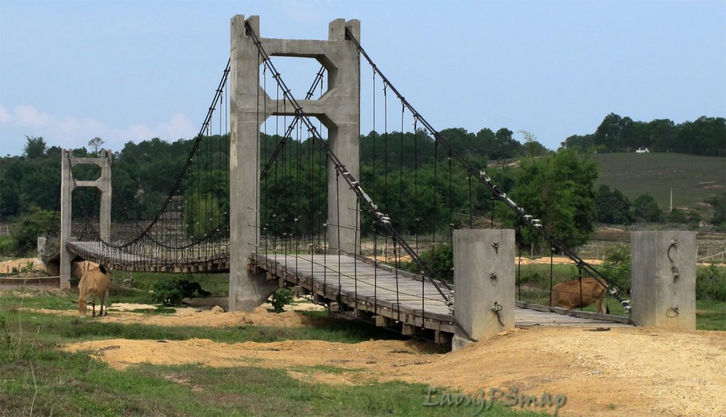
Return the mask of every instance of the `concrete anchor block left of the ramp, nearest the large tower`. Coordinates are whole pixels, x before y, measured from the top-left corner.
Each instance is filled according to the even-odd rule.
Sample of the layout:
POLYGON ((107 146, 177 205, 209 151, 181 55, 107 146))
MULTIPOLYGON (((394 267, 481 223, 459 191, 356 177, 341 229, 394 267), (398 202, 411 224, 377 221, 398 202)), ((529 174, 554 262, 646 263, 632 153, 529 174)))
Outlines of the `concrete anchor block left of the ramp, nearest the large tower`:
POLYGON ((514 230, 454 230, 454 351, 514 328, 514 255, 514 230))

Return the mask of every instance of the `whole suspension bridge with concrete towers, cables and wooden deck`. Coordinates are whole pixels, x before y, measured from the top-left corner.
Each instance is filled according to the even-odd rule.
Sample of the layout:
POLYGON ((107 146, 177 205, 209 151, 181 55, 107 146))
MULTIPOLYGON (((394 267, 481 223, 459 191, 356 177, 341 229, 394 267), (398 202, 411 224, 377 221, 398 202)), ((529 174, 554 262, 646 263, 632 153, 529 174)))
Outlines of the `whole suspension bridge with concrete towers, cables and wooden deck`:
MULTIPOLYGON (((473 339, 458 323, 453 285, 423 254, 450 245, 454 229, 481 227, 474 219, 489 210, 493 226, 496 203, 629 311, 607 275, 561 243, 494 183, 486 166, 470 163, 415 110, 362 47, 357 20, 334 20, 325 41, 262 38, 258 17, 234 17, 231 31, 230 60, 207 116, 155 215, 142 219, 128 209, 112 222, 112 203, 132 205, 124 200, 128 194, 117 196, 111 187, 111 154, 63 152, 62 227, 39 251, 46 262, 60 261, 62 286, 73 259, 113 270, 226 272, 230 309, 257 307, 275 288, 291 286, 334 312, 407 335, 451 343, 462 332, 473 339), (319 62, 305 94, 285 84, 275 57, 319 62), (370 74, 375 131, 365 143, 362 66, 370 74), (411 153, 404 155, 404 147, 411 153), (424 163, 433 164, 433 178, 420 172, 424 163), (84 164, 101 167, 101 177, 74 179, 74 167, 84 164), (452 193, 461 184, 465 198, 452 193), (99 214, 82 224, 71 215, 79 187, 91 187, 101 199, 99 214)), ((520 326, 629 323, 628 317, 521 307, 531 306, 516 309, 520 326)))

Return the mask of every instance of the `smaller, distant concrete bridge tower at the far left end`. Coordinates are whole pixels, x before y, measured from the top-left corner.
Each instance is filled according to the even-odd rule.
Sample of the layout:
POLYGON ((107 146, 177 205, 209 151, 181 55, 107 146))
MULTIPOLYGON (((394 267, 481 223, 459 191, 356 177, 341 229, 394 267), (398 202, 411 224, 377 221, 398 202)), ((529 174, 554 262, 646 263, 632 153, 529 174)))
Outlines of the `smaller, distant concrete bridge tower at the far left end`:
POLYGON ((101 208, 99 215, 99 233, 101 240, 111 238, 111 152, 102 149, 100 158, 73 158, 70 150, 61 153, 60 174, 60 288, 70 288, 70 274, 73 270, 71 262, 75 255, 71 254, 65 243, 73 239, 71 225, 73 220, 72 201, 73 189, 76 187, 97 187, 101 191, 101 208), (90 164, 101 168, 101 176, 92 181, 76 181, 73 169, 76 165, 90 164))

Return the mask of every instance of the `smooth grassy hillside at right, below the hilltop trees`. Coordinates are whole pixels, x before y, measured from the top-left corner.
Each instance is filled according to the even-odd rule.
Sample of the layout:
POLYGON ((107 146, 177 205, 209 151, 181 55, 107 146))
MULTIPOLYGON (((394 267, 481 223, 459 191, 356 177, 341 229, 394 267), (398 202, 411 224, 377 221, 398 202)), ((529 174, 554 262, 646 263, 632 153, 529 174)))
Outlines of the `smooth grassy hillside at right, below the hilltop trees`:
POLYGON ((617 188, 630 201, 648 193, 661 209, 668 211, 673 189, 673 206, 696 209, 703 219, 711 219, 711 206, 703 203, 726 188, 726 158, 682 153, 598 153, 600 184, 617 188))

